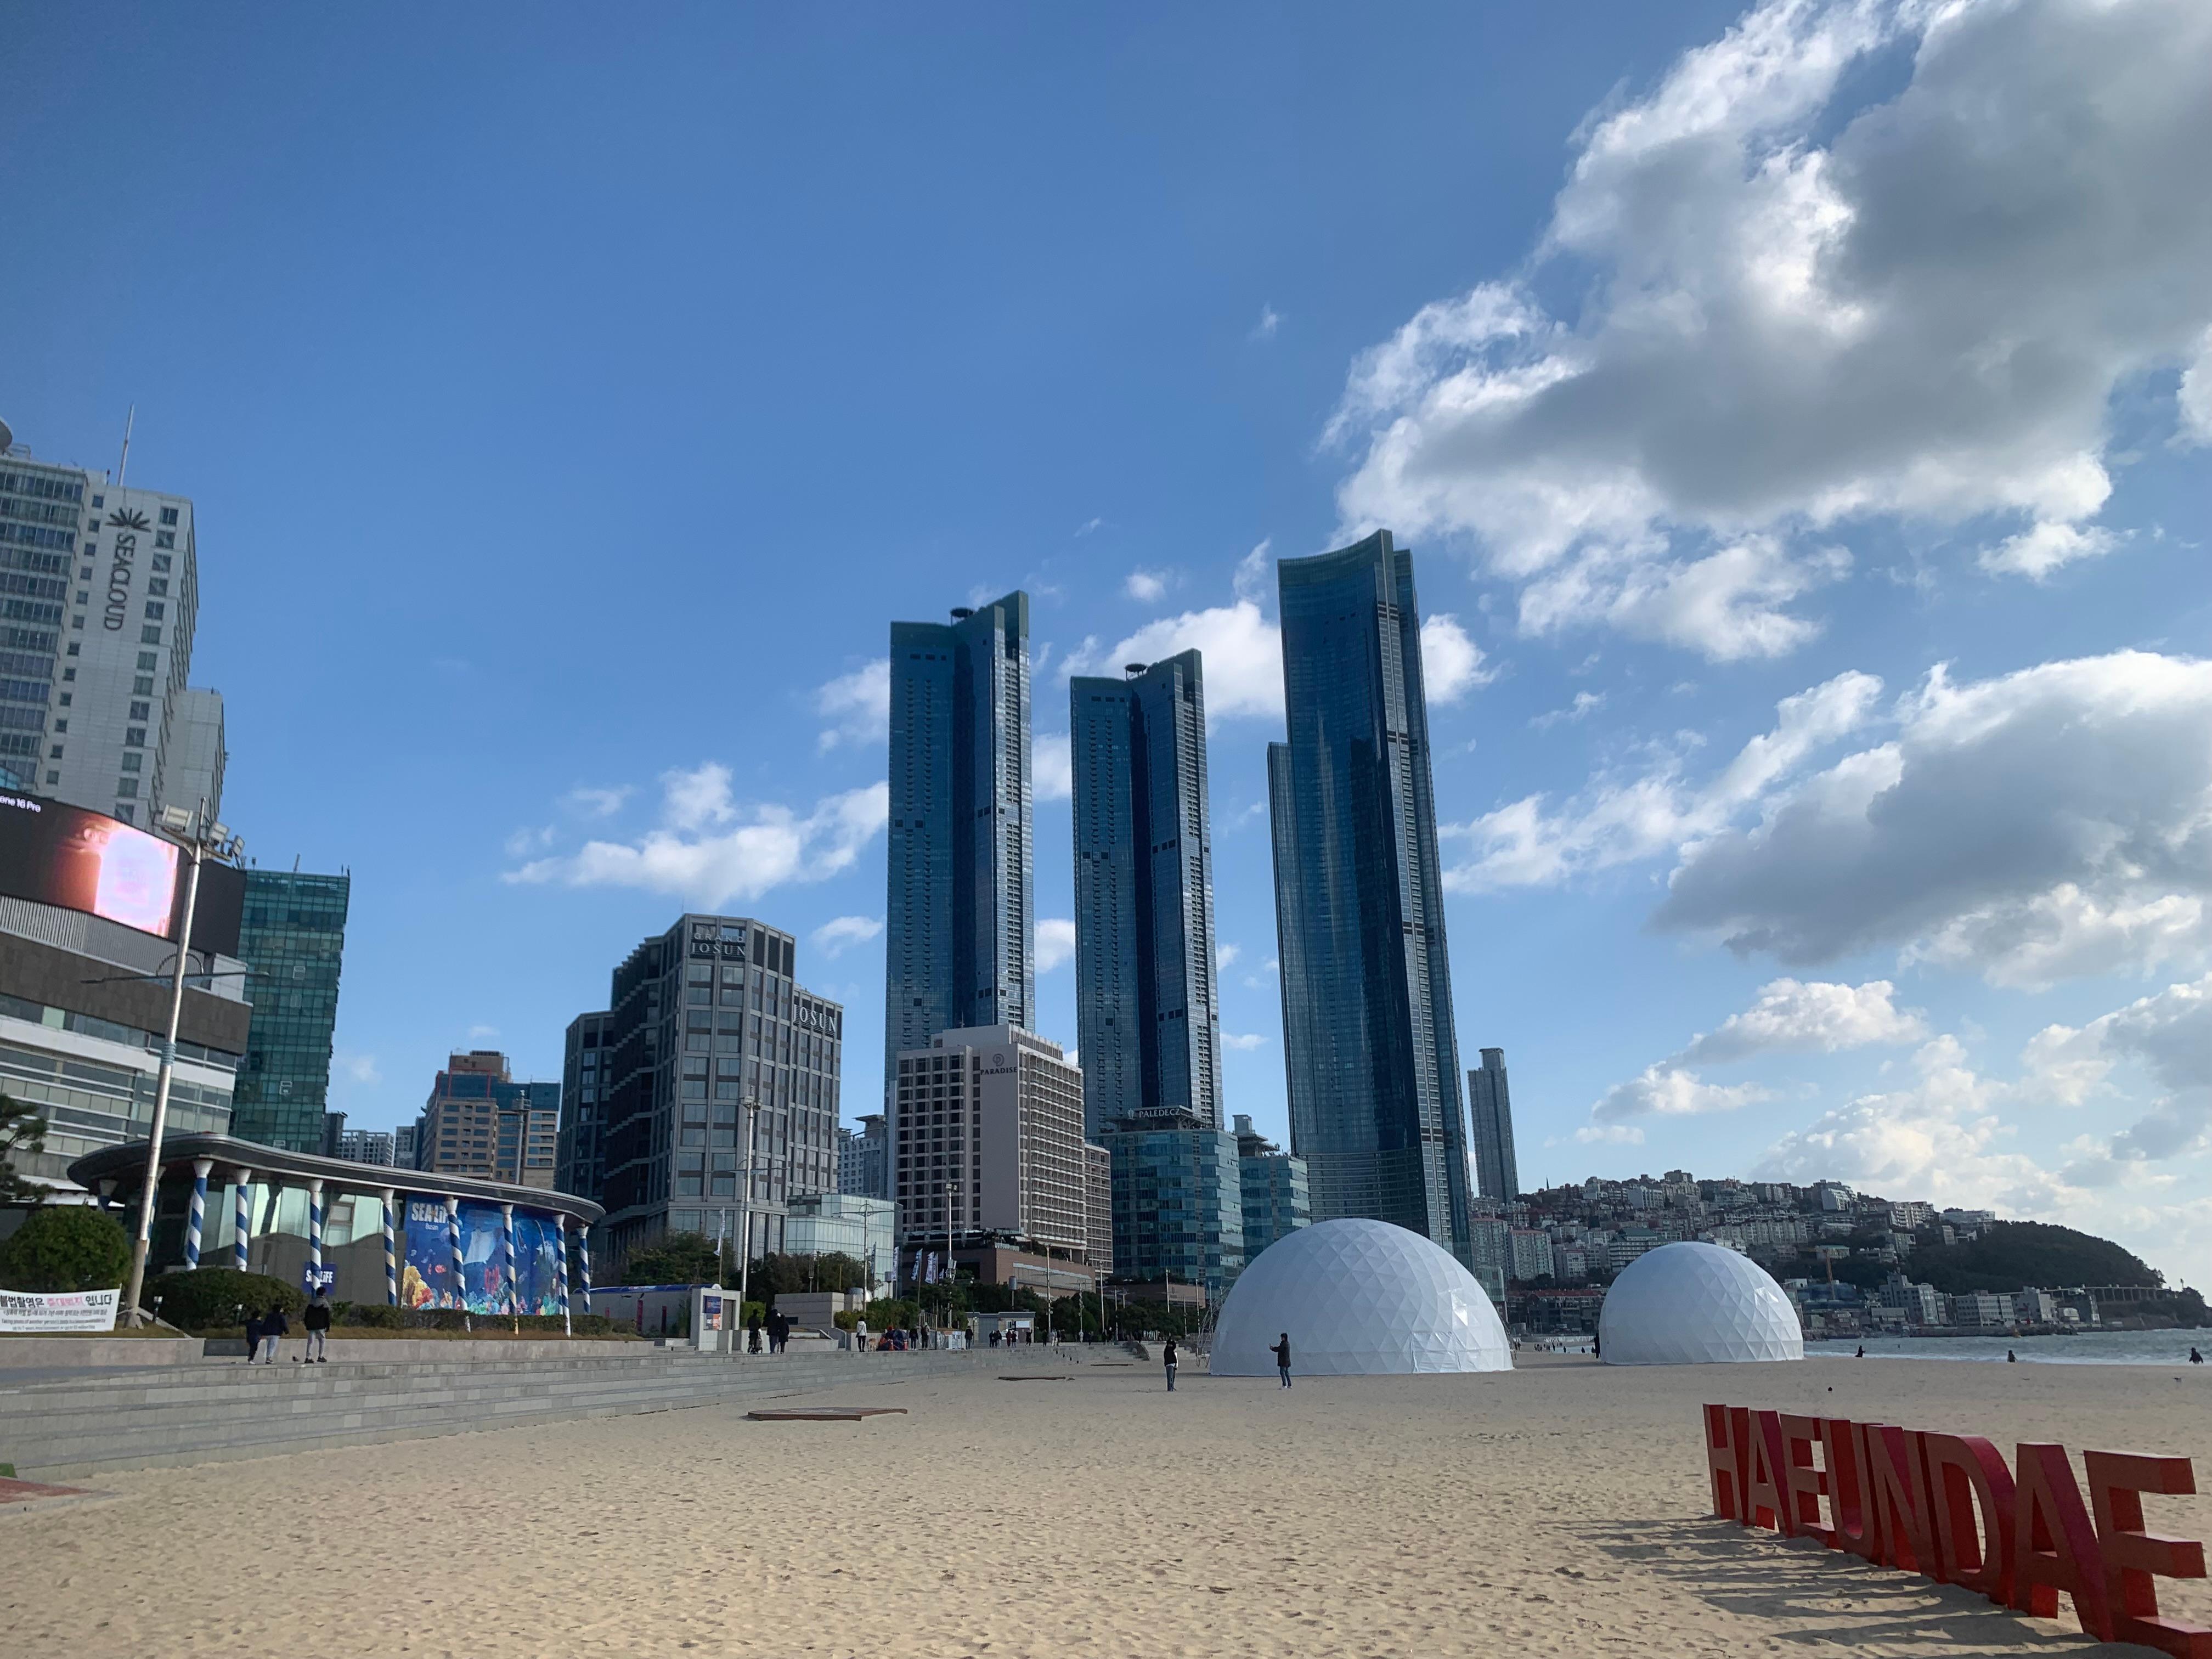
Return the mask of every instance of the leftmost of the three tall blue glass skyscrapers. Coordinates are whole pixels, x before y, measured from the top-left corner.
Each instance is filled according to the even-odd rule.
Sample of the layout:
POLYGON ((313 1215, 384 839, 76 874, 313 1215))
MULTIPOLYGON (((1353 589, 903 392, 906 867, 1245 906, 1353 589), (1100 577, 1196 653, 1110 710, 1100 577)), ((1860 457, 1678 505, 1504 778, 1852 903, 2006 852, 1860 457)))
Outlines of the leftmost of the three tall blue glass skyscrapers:
POLYGON ((1035 1024, 1029 595, 891 624, 883 1077, 940 1031, 1035 1024))

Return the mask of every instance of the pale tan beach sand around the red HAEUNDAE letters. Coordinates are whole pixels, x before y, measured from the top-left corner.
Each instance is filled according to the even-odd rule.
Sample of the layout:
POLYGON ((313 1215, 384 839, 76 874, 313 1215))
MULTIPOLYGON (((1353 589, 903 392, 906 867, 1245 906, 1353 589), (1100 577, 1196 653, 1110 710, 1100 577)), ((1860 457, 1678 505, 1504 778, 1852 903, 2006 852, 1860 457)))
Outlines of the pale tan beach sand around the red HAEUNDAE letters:
MULTIPOLYGON (((9 1655, 2048 1655, 1964 1590, 1712 1520, 1703 1400, 2185 1453, 2188 1367, 1807 1360, 1504 1376, 1152 1367, 102 1475, 0 1524, 9 1655)), ((856 1367, 858 1369, 858 1367, 856 1367)), ((896 1376, 891 1365, 878 1376, 896 1376)), ((2212 1537, 2212 1500, 2146 1500, 2212 1537)), ((2163 1586, 2212 1624, 2203 1584, 2163 1586)), ((2141 1652, 2106 1648, 2106 1652, 2141 1652)))

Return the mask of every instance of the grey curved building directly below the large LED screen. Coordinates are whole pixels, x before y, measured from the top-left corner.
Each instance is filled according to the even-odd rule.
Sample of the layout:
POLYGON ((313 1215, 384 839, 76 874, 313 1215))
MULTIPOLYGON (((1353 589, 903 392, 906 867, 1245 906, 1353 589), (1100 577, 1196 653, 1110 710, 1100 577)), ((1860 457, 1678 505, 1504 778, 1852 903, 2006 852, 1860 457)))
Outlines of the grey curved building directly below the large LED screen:
MULTIPOLYGON (((0 1088, 46 1119, 46 1150, 20 1155, 20 1175, 69 1190, 75 1159, 150 1130, 175 956, 157 933, 0 896, 0 1088)), ((186 980, 170 1135, 228 1133, 246 984, 230 956, 186 980)))

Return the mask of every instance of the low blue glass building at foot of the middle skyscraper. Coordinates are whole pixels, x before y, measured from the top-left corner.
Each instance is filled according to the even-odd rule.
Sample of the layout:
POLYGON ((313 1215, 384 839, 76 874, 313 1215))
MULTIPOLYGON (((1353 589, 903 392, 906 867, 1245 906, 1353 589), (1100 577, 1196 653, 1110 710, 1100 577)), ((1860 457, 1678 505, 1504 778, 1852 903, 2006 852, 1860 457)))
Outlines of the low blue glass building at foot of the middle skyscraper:
POLYGON ((1237 1137, 1183 1106, 1130 1113, 1106 1130, 1113 1272, 1203 1285, 1219 1303, 1245 1265, 1237 1137))

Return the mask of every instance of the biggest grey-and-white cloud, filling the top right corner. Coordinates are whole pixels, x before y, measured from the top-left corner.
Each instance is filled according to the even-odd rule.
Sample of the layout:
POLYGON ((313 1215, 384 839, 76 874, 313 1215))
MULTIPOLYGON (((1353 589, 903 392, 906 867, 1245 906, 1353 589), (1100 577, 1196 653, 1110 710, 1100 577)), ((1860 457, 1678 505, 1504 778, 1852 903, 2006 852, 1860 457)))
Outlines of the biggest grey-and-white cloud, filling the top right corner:
POLYGON ((2212 440, 2208 82, 2201 0, 1761 4, 1593 115, 1524 276, 1358 358, 1345 529, 1471 535, 1528 633, 1717 659, 1809 637, 1827 526, 2104 551, 2115 389, 2185 365, 2212 440), (1843 102, 1885 53, 1907 84, 1843 102))

